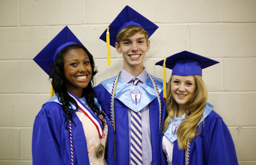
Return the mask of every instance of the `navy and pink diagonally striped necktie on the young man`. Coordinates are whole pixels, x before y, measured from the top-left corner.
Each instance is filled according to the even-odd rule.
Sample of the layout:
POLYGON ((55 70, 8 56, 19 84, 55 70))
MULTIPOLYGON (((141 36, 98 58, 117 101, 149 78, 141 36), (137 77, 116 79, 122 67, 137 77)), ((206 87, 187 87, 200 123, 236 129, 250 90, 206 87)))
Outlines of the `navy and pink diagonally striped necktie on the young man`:
MULTIPOLYGON (((133 85, 137 85, 138 81, 138 78, 133 78, 133 85)), ((141 113, 133 110, 131 110, 131 164, 142 164, 141 113)))

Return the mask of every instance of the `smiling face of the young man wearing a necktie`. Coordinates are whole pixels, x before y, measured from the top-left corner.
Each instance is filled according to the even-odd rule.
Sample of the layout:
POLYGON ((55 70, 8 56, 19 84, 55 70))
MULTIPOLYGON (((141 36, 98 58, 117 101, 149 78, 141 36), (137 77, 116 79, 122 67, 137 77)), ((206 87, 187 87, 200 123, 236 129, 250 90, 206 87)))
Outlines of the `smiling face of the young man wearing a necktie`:
POLYGON ((115 44, 116 50, 123 55, 124 69, 132 71, 135 68, 143 70, 143 60, 150 47, 149 40, 146 40, 145 34, 137 32, 133 36, 124 38, 120 44, 115 44))

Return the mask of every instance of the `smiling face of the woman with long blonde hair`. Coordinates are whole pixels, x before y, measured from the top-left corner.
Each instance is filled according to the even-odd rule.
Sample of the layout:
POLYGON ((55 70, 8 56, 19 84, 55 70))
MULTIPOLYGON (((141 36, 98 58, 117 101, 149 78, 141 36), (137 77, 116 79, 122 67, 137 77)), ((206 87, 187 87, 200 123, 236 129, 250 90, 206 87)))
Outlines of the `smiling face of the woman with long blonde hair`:
POLYGON ((194 76, 173 75, 171 80, 171 94, 179 104, 179 109, 185 110, 196 91, 194 76))

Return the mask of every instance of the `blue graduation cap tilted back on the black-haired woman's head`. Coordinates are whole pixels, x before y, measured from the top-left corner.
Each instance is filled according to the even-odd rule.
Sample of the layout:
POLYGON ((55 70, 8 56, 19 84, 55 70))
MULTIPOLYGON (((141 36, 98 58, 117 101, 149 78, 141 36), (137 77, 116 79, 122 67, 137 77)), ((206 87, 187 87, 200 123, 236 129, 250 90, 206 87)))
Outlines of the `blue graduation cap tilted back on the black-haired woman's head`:
POLYGON ((34 57, 33 60, 47 73, 47 75, 51 76, 51 69, 56 55, 62 48, 73 44, 83 45, 66 26, 34 57))

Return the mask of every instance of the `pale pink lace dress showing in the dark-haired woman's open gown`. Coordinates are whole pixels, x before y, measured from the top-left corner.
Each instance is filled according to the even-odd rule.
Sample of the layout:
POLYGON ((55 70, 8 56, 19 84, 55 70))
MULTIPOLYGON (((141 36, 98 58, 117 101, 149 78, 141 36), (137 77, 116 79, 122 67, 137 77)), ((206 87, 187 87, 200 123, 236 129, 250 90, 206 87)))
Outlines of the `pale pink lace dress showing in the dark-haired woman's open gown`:
POLYGON ((83 124, 90 165, 107 164, 106 160, 104 159, 104 156, 102 156, 102 158, 100 159, 98 159, 96 156, 97 147, 100 144, 102 144, 105 147, 107 144, 108 126, 106 121, 105 121, 105 128, 103 131, 103 137, 102 139, 100 139, 98 130, 94 126, 93 122, 88 117, 86 117, 83 112, 76 112, 76 114, 79 120, 83 124))

